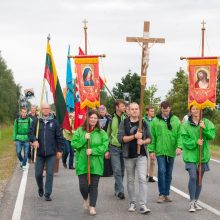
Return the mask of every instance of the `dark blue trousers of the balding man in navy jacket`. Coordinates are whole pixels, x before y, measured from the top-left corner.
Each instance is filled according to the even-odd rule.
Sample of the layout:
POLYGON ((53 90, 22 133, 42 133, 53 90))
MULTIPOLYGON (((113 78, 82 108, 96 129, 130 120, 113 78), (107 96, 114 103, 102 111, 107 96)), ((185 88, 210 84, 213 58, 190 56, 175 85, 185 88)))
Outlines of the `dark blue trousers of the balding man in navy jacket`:
POLYGON ((48 157, 37 156, 35 164, 35 178, 39 189, 43 189, 43 170, 44 162, 46 163, 46 182, 45 182, 45 195, 49 196, 53 188, 53 171, 55 163, 55 155, 48 157))

